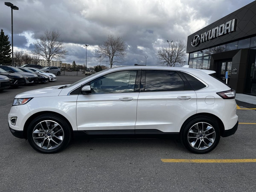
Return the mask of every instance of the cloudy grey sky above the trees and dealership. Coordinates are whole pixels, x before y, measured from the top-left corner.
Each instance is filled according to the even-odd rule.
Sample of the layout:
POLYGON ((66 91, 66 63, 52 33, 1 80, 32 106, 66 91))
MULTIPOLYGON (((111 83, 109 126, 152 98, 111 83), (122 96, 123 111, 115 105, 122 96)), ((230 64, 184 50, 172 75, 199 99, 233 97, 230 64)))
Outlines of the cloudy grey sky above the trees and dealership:
MULTIPOLYGON (((11 40, 11 9, 0 1, 0 28, 11 40)), ((68 55, 64 63, 99 64, 94 55, 109 35, 120 36, 128 46, 126 61, 156 65, 158 48, 166 40, 182 40, 208 24, 253 2, 253 0, 11 0, 14 52, 33 50, 33 42, 45 30, 58 30, 68 55)), ((188 60, 186 58, 185 60, 188 60)), ((103 59, 101 64, 109 66, 103 59)))

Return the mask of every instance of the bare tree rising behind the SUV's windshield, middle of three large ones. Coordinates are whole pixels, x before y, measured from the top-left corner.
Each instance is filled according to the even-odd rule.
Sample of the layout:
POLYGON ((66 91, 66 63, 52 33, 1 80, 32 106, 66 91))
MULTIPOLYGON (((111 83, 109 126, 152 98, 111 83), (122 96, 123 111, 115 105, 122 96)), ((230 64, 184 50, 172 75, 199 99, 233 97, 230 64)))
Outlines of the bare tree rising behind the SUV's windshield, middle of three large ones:
POLYGON ((121 37, 114 38, 114 36, 108 36, 108 40, 104 42, 103 45, 99 45, 98 50, 95 54, 98 58, 109 58, 110 68, 114 62, 118 62, 114 57, 119 58, 121 61, 124 61, 126 56, 126 45, 122 41, 121 37))

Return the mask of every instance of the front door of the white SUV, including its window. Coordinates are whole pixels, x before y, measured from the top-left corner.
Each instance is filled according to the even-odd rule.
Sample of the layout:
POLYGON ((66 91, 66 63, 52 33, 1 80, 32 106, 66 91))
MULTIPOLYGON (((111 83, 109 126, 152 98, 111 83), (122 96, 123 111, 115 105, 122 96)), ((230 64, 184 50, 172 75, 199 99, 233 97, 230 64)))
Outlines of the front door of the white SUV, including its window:
POLYGON ((132 130, 134 133, 138 92, 137 70, 122 70, 100 76, 88 84, 91 94, 79 94, 78 130, 132 130))

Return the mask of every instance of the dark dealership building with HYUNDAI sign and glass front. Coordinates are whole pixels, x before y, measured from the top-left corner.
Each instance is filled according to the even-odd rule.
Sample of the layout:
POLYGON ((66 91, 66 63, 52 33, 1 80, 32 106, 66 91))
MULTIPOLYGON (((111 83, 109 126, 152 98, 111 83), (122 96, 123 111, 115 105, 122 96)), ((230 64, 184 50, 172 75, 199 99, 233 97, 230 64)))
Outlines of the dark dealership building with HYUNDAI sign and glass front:
POLYGON ((189 67, 216 71, 237 93, 256 96, 256 1, 188 36, 189 67))

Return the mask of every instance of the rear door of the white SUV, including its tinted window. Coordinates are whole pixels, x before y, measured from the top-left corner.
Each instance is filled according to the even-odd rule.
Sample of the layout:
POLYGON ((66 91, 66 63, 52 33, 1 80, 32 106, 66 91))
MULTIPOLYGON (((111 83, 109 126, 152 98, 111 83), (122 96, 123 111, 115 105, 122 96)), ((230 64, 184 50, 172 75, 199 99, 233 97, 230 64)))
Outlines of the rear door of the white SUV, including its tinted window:
POLYGON ((142 70, 135 133, 148 130, 179 132, 183 122, 196 114, 196 93, 173 70, 142 70))

